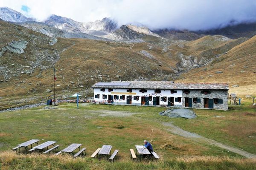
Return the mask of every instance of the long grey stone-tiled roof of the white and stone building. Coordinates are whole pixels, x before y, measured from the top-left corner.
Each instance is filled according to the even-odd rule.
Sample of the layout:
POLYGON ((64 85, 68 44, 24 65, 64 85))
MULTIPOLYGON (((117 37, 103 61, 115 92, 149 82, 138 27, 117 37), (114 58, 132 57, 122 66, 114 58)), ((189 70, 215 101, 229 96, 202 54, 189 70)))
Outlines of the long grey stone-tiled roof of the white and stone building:
POLYGON ((136 89, 202 89, 202 90, 228 90, 227 83, 175 83, 156 81, 112 81, 110 85, 95 83, 91 88, 136 88, 136 89), (122 85, 122 83, 131 83, 122 85))

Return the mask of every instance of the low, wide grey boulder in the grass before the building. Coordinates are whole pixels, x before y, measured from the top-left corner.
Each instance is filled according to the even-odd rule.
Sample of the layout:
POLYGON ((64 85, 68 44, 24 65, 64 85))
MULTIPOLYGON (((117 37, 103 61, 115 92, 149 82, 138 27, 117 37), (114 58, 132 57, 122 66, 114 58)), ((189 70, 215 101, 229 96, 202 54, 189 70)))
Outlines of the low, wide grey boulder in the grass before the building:
POLYGON ((196 117, 195 112, 193 112, 190 109, 183 109, 183 108, 179 108, 179 109, 168 109, 166 111, 162 111, 159 113, 161 116, 169 116, 169 117, 182 117, 182 118, 186 118, 186 119, 193 119, 196 117))

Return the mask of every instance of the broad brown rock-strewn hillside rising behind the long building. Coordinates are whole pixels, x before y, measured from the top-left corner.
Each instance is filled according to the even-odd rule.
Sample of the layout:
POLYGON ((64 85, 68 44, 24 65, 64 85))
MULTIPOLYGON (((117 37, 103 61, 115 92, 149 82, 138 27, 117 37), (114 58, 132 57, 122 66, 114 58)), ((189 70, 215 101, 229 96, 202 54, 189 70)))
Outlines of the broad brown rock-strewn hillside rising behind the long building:
POLYGON ((55 39, 5 21, 0 21, 0 28, 0 105, 5 107, 7 102, 12 105, 10 97, 52 96, 54 65, 59 95, 84 91, 90 96, 90 86, 95 82, 119 79, 168 81, 185 77, 182 81, 226 82, 230 77, 240 82, 246 79, 243 85, 254 81, 255 74, 247 74, 247 70, 255 69, 255 37, 230 40, 206 36, 195 41, 171 41, 146 35, 145 42, 123 43, 55 39), (231 63, 233 60, 235 63, 231 63), (232 74, 231 69, 213 74, 228 65, 236 68, 239 63, 247 64, 244 69, 232 69, 232 74), (206 71, 212 71, 212 76, 202 76, 206 71), (221 76, 225 78, 217 78, 221 76))

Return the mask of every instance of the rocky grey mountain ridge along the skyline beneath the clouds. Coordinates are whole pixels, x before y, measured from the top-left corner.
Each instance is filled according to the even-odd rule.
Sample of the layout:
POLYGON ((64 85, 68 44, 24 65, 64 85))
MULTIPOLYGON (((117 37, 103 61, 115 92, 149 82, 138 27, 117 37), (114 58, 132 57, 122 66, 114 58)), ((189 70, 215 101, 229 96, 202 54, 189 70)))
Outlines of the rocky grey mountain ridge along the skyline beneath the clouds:
MULTIPOLYGON (((100 38, 108 38, 114 41, 143 41, 143 37, 153 36, 157 38, 166 38, 168 40, 197 40, 205 35, 224 35, 229 38, 239 37, 253 37, 256 35, 256 23, 241 23, 238 25, 230 25, 224 28, 210 29, 204 31, 189 31, 189 30, 175 30, 175 29, 157 29, 150 30, 145 26, 134 26, 131 24, 117 27, 117 23, 110 18, 96 20, 94 22, 77 22, 67 17, 51 15, 44 23, 48 25, 45 28, 38 28, 34 24, 28 24, 27 21, 35 21, 35 19, 27 18, 23 14, 14 11, 7 7, 0 8, 0 18, 10 22, 19 22, 20 25, 26 26, 34 31, 41 32, 51 37, 65 37, 65 38, 88 38, 93 40, 100 40, 100 38), (26 23, 20 23, 26 22, 26 23), (35 28, 33 28, 35 27, 35 28), (52 28, 49 28, 52 27, 52 28), (64 32, 60 33, 58 28, 64 32), (129 29, 128 29, 129 28, 129 29), (91 35, 91 36, 89 36, 91 35), (99 39, 96 37, 100 37, 99 39)), ((41 25, 42 27, 42 25, 41 25)), ((104 40, 104 39, 103 39, 104 40)))

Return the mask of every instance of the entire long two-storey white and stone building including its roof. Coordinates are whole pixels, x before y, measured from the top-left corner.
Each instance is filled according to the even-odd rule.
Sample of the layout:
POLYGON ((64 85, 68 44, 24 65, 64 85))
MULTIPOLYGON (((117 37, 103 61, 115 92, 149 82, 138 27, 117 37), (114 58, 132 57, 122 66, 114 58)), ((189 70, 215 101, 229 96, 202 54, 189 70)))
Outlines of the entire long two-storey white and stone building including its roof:
POLYGON ((221 83, 98 82, 99 104, 228 110, 228 85, 221 83))

